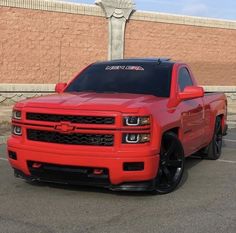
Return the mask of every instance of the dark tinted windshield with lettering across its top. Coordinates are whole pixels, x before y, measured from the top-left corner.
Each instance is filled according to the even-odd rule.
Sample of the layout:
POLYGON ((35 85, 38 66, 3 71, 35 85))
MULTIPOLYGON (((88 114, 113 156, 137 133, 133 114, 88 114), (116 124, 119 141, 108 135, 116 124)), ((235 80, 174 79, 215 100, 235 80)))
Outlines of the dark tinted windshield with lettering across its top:
POLYGON ((172 64, 97 63, 79 74, 65 92, 131 93, 169 97, 172 64))

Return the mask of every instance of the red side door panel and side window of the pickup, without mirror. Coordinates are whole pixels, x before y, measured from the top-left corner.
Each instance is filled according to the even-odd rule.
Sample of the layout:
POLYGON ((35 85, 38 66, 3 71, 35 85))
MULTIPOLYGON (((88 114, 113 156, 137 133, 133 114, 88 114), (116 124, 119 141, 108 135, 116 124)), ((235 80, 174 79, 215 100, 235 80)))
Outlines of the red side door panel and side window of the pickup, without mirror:
MULTIPOLYGON (((186 86, 193 86, 193 80, 187 67, 182 66, 178 72, 178 88, 184 91, 186 86)), ((186 154, 200 149, 204 137, 203 99, 196 98, 180 103, 181 123, 183 129, 183 146, 186 154)))

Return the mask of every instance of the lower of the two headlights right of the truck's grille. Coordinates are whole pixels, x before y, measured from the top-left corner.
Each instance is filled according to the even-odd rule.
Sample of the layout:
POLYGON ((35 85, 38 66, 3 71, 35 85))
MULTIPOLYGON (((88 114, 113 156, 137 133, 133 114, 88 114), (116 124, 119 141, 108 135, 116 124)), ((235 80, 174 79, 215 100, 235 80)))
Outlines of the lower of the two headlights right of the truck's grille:
POLYGON ((126 133, 123 134, 122 142, 127 144, 139 144, 150 142, 148 133, 126 133))

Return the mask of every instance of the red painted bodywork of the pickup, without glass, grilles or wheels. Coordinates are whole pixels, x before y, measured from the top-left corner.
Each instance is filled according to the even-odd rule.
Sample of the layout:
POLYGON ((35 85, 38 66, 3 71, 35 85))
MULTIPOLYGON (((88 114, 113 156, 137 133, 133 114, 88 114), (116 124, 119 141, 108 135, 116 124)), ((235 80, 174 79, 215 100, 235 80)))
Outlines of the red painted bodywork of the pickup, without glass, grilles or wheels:
MULTIPOLYGON (((183 66, 188 68, 182 63, 175 63, 173 66, 169 98, 136 94, 62 92, 17 103, 14 109, 22 111, 22 120, 13 120, 13 124, 22 126, 23 134, 13 135, 8 140, 8 150, 17 153, 17 160, 9 158, 11 166, 28 176, 31 175, 27 166, 28 160, 58 165, 107 168, 110 183, 113 185, 154 179, 159 167, 163 133, 169 130, 177 132, 185 156, 189 156, 210 143, 216 116, 222 116, 222 126, 225 126, 227 102, 224 94, 205 94, 203 97, 183 100, 186 94, 179 94, 178 88, 178 70, 183 66), (26 120, 26 112, 113 116, 115 124, 91 125, 68 122, 58 124, 32 121, 26 120), (123 126, 123 117, 132 115, 150 115, 150 126, 135 128, 123 126), (114 146, 79 146, 30 141, 26 138, 28 128, 68 134, 72 131, 109 133, 114 135, 114 146), (122 133, 125 132, 151 133, 151 141, 140 145, 123 144, 122 133), (144 170, 124 171, 125 162, 144 162, 144 170)), ((191 76, 194 85, 197 85, 192 73, 191 76)))

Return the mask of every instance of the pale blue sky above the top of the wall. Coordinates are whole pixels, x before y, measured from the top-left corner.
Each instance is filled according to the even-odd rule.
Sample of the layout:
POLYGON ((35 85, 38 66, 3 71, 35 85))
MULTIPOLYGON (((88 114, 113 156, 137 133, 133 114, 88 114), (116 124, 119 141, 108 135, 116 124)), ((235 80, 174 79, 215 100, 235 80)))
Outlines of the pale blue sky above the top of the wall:
MULTIPOLYGON (((63 0, 94 4, 95 0, 63 0)), ((137 10, 236 20, 236 0, 134 0, 137 10)))

